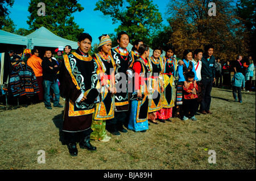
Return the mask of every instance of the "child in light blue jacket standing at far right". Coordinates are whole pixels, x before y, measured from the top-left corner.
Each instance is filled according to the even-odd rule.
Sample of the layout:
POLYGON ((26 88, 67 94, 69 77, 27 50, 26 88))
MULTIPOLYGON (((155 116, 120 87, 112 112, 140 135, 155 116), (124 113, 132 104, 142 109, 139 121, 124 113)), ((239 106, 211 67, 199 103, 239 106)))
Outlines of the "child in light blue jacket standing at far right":
POLYGON ((238 71, 236 74, 234 74, 234 77, 232 78, 232 90, 233 90, 233 97, 236 102, 242 103, 242 93, 241 89, 242 87, 245 87, 245 76, 241 73, 241 71, 238 71), (237 98, 238 93, 238 98, 237 98))

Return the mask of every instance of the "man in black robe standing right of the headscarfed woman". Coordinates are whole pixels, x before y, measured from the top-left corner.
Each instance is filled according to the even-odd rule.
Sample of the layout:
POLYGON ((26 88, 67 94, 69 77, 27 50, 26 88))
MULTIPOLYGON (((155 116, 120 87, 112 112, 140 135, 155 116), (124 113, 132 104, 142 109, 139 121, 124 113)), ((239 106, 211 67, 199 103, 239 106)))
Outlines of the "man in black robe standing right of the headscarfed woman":
POLYGON ((127 70, 133 62, 131 52, 126 48, 129 45, 129 36, 126 32, 121 32, 117 37, 118 47, 111 49, 111 55, 114 59, 115 69, 115 113, 114 119, 106 122, 106 129, 115 136, 120 132, 127 133, 123 128, 125 124, 127 111, 129 110, 129 92, 127 82, 127 70), (120 132, 119 132, 120 131, 120 132))

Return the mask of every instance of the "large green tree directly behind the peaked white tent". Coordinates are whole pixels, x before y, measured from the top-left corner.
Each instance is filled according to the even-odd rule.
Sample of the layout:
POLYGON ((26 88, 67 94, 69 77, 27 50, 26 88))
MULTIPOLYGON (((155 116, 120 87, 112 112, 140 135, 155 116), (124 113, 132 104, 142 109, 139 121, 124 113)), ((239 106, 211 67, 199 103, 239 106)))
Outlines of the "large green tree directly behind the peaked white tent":
POLYGON ((28 11, 28 25, 31 30, 37 30, 44 26, 55 35, 63 37, 64 39, 77 41, 80 33, 84 32, 83 28, 74 22, 72 14, 74 12, 81 12, 84 10, 76 0, 45 0, 43 3, 46 5, 46 16, 38 15, 38 3, 42 0, 31 0, 28 11))

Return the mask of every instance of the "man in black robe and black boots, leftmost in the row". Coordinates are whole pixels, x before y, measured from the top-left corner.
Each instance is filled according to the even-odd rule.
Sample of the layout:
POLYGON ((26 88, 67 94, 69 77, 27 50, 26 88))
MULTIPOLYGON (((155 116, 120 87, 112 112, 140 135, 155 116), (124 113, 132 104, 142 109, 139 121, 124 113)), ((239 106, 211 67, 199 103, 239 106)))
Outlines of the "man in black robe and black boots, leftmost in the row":
POLYGON ((60 66, 60 91, 65 98, 63 121, 64 139, 69 153, 76 156, 77 142, 81 149, 95 151, 90 144, 91 125, 95 103, 99 101, 100 92, 96 89, 97 65, 88 54, 92 46, 92 36, 81 33, 76 52, 64 55, 60 66))

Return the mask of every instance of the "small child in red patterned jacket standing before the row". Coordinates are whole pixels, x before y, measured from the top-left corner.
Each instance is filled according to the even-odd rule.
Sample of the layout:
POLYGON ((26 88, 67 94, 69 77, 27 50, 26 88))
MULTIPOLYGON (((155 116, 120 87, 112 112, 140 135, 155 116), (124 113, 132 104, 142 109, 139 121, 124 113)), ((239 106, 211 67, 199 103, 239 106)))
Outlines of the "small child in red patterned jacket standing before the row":
POLYGON ((197 94, 196 91, 198 89, 197 84, 193 79, 195 78, 195 73, 193 71, 189 71, 187 73, 186 82, 188 84, 187 88, 183 85, 183 95, 184 95, 184 102, 183 102, 183 120, 188 120, 191 117, 191 120, 196 121, 195 117, 195 108, 196 105, 196 98, 197 94))

